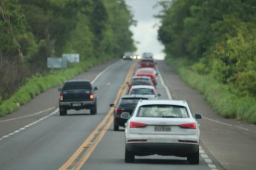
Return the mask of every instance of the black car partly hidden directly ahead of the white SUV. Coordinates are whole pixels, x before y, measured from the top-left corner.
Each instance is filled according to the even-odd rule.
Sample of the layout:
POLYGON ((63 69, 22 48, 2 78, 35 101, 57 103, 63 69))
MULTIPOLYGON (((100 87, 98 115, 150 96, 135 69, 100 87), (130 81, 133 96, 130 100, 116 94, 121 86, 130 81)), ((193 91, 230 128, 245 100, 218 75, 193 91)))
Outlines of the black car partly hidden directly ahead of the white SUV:
POLYGON ((139 100, 148 100, 148 97, 143 95, 123 95, 119 98, 117 105, 110 104, 110 107, 116 107, 114 111, 114 130, 118 131, 119 126, 124 127, 127 120, 120 118, 122 112, 129 112, 132 114, 139 100))

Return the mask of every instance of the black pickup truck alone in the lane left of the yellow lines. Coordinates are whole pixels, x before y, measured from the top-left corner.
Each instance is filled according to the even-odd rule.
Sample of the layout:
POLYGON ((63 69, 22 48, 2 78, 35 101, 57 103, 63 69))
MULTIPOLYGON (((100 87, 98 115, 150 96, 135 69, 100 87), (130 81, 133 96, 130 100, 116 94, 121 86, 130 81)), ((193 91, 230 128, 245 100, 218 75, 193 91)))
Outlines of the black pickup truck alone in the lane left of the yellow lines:
POLYGON ((68 109, 90 109, 90 114, 97 112, 97 98, 94 87, 88 80, 70 80, 66 81, 62 88, 59 88, 59 109, 60 115, 67 115, 68 109))

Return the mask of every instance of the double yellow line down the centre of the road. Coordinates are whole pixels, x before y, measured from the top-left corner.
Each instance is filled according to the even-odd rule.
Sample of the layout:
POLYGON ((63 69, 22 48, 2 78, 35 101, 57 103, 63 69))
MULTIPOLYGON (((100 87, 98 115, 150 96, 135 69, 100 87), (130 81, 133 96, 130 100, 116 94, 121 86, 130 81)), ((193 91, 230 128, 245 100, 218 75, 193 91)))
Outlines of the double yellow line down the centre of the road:
MULTIPOLYGON (((122 86, 120 87, 120 89, 117 92, 116 95, 116 99, 114 101, 114 104, 116 105, 118 99, 122 96, 125 95, 125 92, 127 90, 127 85, 126 82, 131 80, 131 77, 133 75, 133 71, 134 68, 136 66, 136 63, 134 63, 129 71, 128 74, 126 75, 125 78, 125 82, 124 84, 122 84, 122 86)), ((93 150, 95 149, 95 147, 97 146, 97 144, 99 143, 99 141, 102 140, 103 136, 105 135, 105 133, 107 132, 108 128, 110 127, 110 125, 113 123, 113 118, 110 118, 110 116, 112 115, 114 111, 114 108, 111 107, 111 109, 109 110, 109 112, 107 113, 107 115, 105 116, 105 118, 102 120, 102 122, 96 127, 95 130, 93 130, 93 132, 88 136, 88 138, 84 141, 83 144, 81 144, 81 146, 76 150, 76 152, 67 160, 67 162, 65 162, 60 168, 59 170, 67 170, 67 168, 70 167, 70 165, 74 164, 73 167, 71 167, 71 170, 79 170, 83 164, 87 161, 87 159, 90 157, 90 155, 93 153, 93 150), (108 122, 107 122, 108 121, 108 122), (105 125, 105 127, 103 127, 105 125), (103 127, 103 128, 102 128, 103 127), (96 137, 96 139, 91 143, 90 141, 93 140, 93 138, 98 135, 96 137), (88 148, 86 150, 86 152, 84 153, 83 156, 81 156, 81 158, 77 161, 77 157, 81 154, 81 152, 84 150, 84 148, 88 148)))

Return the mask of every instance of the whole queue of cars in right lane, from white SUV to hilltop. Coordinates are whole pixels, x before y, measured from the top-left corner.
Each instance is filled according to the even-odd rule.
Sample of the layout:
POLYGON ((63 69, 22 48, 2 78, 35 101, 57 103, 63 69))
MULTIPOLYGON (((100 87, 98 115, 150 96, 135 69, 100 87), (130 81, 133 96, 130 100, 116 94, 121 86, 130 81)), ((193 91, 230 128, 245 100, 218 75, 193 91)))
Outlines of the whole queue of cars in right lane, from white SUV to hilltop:
POLYGON ((135 156, 186 157, 199 164, 200 129, 189 105, 182 100, 158 100, 157 72, 151 54, 143 53, 140 68, 128 84, 128 92, 115 107, 114 130, 125 127, 125 162, 135 156), (149 57, 146 57, 149 56, 149 57))

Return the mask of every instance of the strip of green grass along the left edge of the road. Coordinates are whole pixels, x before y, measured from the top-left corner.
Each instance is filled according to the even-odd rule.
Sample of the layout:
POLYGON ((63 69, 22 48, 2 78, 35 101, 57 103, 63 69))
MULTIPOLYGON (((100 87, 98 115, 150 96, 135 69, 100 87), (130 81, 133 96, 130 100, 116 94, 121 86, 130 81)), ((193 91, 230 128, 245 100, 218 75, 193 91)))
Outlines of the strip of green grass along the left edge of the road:
MULTIPOLYGON (((109 58, 110 59, 110 58, 109 58)), ((60 86, 64 81, 73 78, 82 72, 87 71, 93 66, 104 63, 109 59, 88 58, 81 63, 73 64, 67 69, 51 70, 48 75, 35 75, 32 78, 26 79, 26 84, 20 88, 9 99, 2 101, 0 104, 0 116, 4 116, 15 112, 21 105, 31 101, 35 95, 46 91, 49 88, 60 86)))

